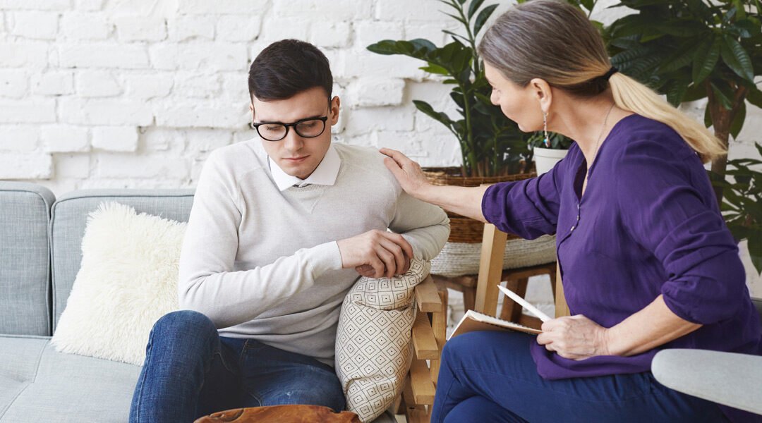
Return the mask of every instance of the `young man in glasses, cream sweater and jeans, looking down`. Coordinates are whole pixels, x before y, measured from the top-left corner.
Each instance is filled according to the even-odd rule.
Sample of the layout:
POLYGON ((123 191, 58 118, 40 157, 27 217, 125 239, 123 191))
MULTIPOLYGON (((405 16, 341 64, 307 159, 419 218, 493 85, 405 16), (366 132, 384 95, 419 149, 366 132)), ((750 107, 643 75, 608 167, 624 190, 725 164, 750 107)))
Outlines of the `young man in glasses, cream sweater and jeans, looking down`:
POLYGON ((328 59, 283 40, 251 64, 259 139, 210 154, 180 258, 181 311, 155 324, 130 421, 193 421, 224 409, 336 411, 336 326, 359 275, 406 272, 450 232, 405 194, 373 148, 331 145, 339 98, 328 59), (392 232, 386 231, 389 228, 392 232))

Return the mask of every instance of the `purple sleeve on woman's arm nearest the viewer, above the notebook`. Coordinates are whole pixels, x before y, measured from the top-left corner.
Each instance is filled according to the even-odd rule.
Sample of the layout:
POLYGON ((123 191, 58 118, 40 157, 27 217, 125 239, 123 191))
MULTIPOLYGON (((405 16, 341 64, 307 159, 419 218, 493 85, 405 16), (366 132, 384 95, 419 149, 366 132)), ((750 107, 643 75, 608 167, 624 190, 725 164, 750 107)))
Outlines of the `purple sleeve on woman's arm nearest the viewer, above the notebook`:
POLYGON ((748 296, 744 267, 706 170, 671 135, 623 148, 616 160, 618 208, 629 237, 664 266, 667 307, 693 323, 717 323, 748 296))

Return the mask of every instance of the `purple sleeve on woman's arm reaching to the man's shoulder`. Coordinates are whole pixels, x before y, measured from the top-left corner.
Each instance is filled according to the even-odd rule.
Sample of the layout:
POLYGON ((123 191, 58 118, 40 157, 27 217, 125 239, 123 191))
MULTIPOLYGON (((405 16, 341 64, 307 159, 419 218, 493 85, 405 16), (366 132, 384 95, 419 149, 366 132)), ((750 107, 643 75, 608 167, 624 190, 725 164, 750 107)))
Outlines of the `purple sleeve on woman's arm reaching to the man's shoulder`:
POLYGON ((567 162, 564 158, 539 177, 490 186, 482 197, 482 214, 501 231, 527 240, 555 234, 567 162))

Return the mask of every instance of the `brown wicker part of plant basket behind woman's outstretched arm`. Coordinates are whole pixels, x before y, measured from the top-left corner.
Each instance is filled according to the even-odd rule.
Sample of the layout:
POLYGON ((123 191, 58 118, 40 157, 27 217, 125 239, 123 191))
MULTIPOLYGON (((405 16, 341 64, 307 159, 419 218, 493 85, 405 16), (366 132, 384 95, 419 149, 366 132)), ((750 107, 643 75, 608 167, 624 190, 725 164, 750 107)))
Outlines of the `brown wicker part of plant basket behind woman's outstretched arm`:
MULTIPOLYGON (((423 170, 430 183, 434 185, 449 186, 480 186, 484 184, 525 180, 531 177, 536 177, 535 172, 517 173, 500 177, 463 177, 459 167, 424 167, 423 170)), ((482 242, 482 235, 484 234, 484 224, 482 222, 451 212, 447 212, 447 217, 450 218, 450 237, 447 238, 448 242, 482 242)), ((508 234, 508 240, 517 238, 519 238, 517 235, 508 234)))

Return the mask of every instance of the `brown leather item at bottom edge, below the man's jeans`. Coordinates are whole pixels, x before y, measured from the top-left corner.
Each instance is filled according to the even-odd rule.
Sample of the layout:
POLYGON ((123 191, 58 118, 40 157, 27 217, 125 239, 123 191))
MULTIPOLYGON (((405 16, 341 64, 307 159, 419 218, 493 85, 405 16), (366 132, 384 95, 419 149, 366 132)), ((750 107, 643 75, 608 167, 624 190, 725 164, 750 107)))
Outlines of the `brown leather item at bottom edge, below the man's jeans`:
POLYGON ((216 412, 197 419, 194 423, 360 423, 354 412, 335 413, 324 406, 267 406, 216 412))

